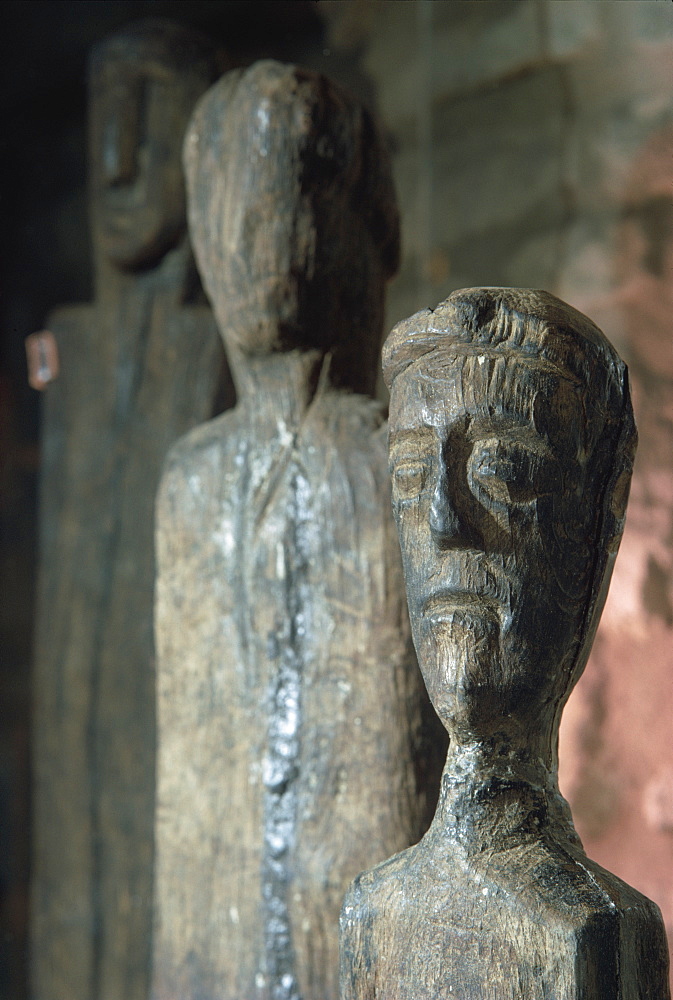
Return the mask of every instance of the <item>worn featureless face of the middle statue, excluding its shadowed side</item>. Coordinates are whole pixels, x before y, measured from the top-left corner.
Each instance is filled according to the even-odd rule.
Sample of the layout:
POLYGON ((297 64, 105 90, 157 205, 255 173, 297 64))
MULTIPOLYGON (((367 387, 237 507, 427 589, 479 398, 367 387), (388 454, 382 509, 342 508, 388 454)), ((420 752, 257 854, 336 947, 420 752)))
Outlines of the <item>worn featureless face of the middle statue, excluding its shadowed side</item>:
POLYGON ((334 122, 314 122, 291 75, 270 73, 267 96, 245 78, 227 94, 228 82, 185 143, 191 238, 227 346, 326 350, 354 315, 366 334, 385 279, 364 207, 352 205, 352 150, 334 122))

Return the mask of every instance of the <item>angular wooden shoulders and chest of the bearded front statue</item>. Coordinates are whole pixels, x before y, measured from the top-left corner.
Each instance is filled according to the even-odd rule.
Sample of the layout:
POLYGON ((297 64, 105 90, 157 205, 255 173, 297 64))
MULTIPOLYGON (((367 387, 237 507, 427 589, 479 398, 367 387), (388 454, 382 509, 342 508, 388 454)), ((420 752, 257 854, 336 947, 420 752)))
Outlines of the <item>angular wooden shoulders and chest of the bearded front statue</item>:
POLYGON ((344 1000, 668 995, 656 907, 549 838, 468 858, 428 834, 357 879, 341 922, 344 1000))

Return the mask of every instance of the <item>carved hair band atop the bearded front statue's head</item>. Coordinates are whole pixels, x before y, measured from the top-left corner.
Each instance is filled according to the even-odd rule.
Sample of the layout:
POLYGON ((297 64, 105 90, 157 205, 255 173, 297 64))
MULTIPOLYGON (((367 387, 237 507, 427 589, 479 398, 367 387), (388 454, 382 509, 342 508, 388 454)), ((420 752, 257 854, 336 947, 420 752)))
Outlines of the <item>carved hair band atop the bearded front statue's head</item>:
POLYGON ((599 362, 621 385, 625 365, 598 327, 549 292, 532 288, 463 288, 435 309, 398 323, 383 347, 388 388, 410 365, 433 354, 511 356, 588 381, 587 364, 599 362))

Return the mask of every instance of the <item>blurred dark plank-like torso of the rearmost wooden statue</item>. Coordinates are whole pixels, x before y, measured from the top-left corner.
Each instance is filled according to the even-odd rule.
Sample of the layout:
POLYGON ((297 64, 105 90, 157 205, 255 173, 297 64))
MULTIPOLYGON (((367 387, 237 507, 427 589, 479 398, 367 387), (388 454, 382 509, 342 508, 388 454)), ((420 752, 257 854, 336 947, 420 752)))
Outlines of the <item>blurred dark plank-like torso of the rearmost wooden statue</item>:
POLYGON ((60 375, 42 411, 32 965, 55 1000, 147 994, 154 496, 222 375, 209 309, 142 279, 127 291, 48 321, 60 375))

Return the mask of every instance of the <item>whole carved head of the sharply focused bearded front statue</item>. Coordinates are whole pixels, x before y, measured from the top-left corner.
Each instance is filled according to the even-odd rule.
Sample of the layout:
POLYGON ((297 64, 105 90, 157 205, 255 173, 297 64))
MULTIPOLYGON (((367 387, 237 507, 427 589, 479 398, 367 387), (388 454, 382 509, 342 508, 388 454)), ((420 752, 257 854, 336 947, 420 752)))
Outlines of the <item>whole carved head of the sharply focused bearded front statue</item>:
POLYGON ((546 292, 466 289, 384 346, 414 642, 450 733, 553 731, 621 538, 635 426, 624 364, 546 292))

